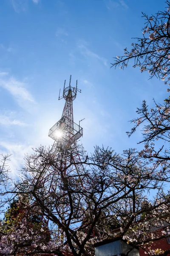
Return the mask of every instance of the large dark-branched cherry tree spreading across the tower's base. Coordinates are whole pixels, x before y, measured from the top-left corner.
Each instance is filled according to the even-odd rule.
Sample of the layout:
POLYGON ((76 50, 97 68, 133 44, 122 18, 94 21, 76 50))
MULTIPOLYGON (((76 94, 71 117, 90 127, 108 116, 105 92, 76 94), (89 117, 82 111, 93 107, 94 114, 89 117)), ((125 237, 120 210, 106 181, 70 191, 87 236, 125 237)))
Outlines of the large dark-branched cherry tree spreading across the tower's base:
POLYGON ((11 231, 1 233, 0 255, 90 256, 96 241, 116 236, 147 251, 147 243, 165 237, 151 235, 150 228, 170 214, 170 195, 162 189, 170 182, 169 170, 150 164, 135 149, 122 155, 98 146, 89 156, 82 152, 81 147, 67 147, 54 155, 40 147, 26 157, 22 178, 15 184, 20 212, 11 231), (68 161, 63 168, 63 154, 71 159, 77 150, 81 160, 68 161), (146 204, 151 191, 154 196, 146 204), (39 224, 32 218, 37 214, 39 224))

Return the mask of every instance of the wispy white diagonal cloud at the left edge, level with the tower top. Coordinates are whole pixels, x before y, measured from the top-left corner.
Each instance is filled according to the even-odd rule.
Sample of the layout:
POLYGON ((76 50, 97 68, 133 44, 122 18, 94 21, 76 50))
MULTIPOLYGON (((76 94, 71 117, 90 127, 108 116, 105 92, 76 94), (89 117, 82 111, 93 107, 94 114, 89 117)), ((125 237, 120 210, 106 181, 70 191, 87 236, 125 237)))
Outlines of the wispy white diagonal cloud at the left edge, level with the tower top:
POLYGON ((8 90, 21 107, 24 107, 24 102, 35 103, 31 93, 26 89, 26 85, 26 83, 19 81, 14 77, 0 76, 0 87, 8 90))

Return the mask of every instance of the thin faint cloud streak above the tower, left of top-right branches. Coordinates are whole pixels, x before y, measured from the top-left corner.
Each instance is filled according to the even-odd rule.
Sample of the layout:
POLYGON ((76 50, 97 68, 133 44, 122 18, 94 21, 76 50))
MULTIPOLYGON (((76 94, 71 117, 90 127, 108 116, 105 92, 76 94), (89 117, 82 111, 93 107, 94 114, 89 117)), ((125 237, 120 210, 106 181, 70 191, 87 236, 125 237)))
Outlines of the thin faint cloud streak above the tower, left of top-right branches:
POLYGON ((87 46, 85 46, 85 44, 82 43, 78 43, 77 44, 78 48, 81 50, 81 54, 85 57, 90 57, 90 58, 94 58, 94 59, 98 59, 99 61, 102 61, 102 63, 105 66, 108 66, 107 62, 108 60, 106 58, 101 57, 100 55, 96 54, 95 52, 92 52, 90 49, 88 49, 87 46))

